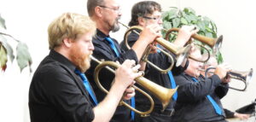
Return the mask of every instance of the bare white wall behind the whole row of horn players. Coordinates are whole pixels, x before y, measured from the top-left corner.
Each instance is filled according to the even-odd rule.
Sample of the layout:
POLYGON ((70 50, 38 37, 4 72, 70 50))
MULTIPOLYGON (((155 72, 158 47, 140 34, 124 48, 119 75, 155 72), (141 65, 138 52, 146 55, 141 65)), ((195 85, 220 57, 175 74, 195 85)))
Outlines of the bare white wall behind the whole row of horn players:
MULTIPOLYGON (((131 18, 131 6, 137 2, 137 0, 120 1, 123 12, 121 21, 125 24, 131 18)), ((256 41, 253 37, 256 28, 253 13, 256 9, 253 8, 253 1, 157 0, 157 2, 164 9, 171 6, 181 9, 190 7, 195 9, 198 15, 206 15, 214 20, 218 26, 218 34, 224 35, 222 49, 224 61, 237 70, 247 70, 250 67, 256 69, 256 64, 253 64, 256 61, 253 55, 253 52, 256 52, 253 48, 256 41)), ((86 0, 0 1, 0 14, 6 20, 7 32, 28 45, 33 59, 33 71, 49 53, 47 42, 49 22, 64 12, 87 15, 86 0)), ((122 40, 124 32, 125 27, 122 27, 120 32, 112 33, 112 36, 122 40)), ((27 68, 20 73, 15 61, 8 63, 5 73, 0 73, 0 121, 30 121, 27 99, 31 78, 32 74, 28 73, 27 68)), ((224 107, 235 110, 252 102, 256 98, 253 94, 256 83, 253 80, 246 92, 230 90, 222 101, 224 107)))

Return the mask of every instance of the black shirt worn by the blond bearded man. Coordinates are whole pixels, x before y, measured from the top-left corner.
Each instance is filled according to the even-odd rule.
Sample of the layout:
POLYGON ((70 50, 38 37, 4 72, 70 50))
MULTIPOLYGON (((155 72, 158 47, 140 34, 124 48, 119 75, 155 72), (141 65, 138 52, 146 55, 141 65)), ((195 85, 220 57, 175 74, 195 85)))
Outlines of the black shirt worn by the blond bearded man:
POLYGON ((32 122, 90 122, 94 119, 90 100, 75 66, 50 50, 38 66, 29 89, 32 122))

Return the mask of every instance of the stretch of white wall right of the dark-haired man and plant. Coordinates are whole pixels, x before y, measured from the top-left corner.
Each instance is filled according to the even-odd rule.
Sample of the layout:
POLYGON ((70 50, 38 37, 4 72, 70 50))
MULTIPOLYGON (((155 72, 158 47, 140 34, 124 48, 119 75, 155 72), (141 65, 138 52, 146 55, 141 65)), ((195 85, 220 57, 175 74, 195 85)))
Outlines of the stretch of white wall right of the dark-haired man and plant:
MULTIPOLYGON (((218 27, 218 34, 224 35, 222 53, 224 62, 229 63, 234 70, 247 71, 253 67, 256 69, 255 44, 256 17, 253 6, 255 2, 250 0, 222 1, 222 0, 176 0, 180 9, 190 7, 195 9, 197 15, 205 15, 211 18, 218 27)), ((161 0, 161 5, 167 9, 171 4, 161 0)), ((254 101, 255 73, 247 91, 240 92, 230 90, 222 100, 224 107, 236 110, 254 101)), ((233 80, 236 82, 235 80, 233 80)), ((235 84, 236 86, 237 84, 235 84)))

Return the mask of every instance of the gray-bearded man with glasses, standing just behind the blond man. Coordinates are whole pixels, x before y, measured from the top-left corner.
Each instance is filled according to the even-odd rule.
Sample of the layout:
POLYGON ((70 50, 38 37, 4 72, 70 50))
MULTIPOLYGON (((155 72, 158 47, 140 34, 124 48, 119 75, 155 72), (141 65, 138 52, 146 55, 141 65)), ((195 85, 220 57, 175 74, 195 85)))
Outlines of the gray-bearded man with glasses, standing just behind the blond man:
MULTIPOLYGON (((119 3, 117 3, 116 0, 88 0, 87 10, 91 20, 96 22, 96 35, 92 39, 92 43, 95 46, 93 55, 97 59, 119 61, 120 63, 126 59, 131 59, 138 62, 147 45, 151 44, 154 38, 160 36, 160 34, 157 33, 160 30, 159 26, 147 26, 141 33, 137 43, 134 44, 130 50, 124 52, 120 49, 117 40, 109 36, 109 32, 119 31, 119 18, 121 17, 119 3)), ((91 61, 90 65, 91 67, 89 71, 86 72, 86 75, 89 80, 93 81, 94 69, 97 63, 91 61)), ((144 65, 142 64, 142 66, 144 65)), ((102 86, 108 90, 113 81, 113 73, 103 69, 102 73, 99 75, 99 79, 102 81, 102 86)), ((106 94, 98 89, 95 83, 91 85, 95 90, 97 99, 101 102, 106 94)), ((134 107, 135 102, 133 98, 125 102, 134 107)), ((129 122, 131 119, 134 119, 134 112, 125 106, 119 106, 111 121, 129 122)))

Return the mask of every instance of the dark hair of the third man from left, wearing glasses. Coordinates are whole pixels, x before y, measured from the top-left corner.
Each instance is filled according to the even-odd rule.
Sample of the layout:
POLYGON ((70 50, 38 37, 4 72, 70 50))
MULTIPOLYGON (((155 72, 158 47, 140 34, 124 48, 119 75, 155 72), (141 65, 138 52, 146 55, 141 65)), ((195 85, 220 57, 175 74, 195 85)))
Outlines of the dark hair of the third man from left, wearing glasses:
POLYGON ((152 15, 155 10, 161 11, 161 6, 159 3, 154 1, 143 1, 136 3, 131 9, 131 21, 129 22, 129 26, 137 26, 138 17, 148 14, 152 15))

